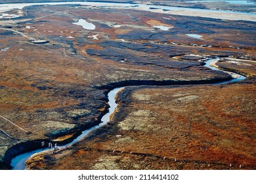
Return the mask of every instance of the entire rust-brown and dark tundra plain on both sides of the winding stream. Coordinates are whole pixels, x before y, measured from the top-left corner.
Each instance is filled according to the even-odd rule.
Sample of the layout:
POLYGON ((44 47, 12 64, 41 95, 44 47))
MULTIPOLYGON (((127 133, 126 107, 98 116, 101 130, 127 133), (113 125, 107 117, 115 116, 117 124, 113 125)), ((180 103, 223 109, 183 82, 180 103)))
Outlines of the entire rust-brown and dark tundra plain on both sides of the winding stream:
POLYGON ((255 169, 255 22, 73 5, 26 7, 21 18, 0 22, 0 115, 25 129, 0 118, 12 137, 0 133, 2 161, 15 144, 63 141, 97 124, 106 93, 120 83, 227 79, 202 66, 219 56, 219 67, 247 80, 129 87, 109 125, 65 151, 35 156, 28 169, 255 169), (96 28, 72 24, 81 18, 96 28))

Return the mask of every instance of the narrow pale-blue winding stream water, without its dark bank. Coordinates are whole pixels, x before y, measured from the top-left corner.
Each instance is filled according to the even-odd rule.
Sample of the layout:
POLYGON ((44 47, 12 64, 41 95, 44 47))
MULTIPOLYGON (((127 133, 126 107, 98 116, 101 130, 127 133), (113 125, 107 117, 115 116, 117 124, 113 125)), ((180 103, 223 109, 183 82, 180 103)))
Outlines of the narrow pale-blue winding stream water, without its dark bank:
MULTIPOLYGON (((211 66, 212 63, 215 63, 219 58, 208 58, 207 61, 205 61, 205 67, 215 70, 215 71, 222 71, 220 69, 217 69, 216 67, 211 66)), ((223 81, 223 82, 216 82, 216 84, 226 84, 228 82, 238 82, 241 80, 245 79, 245 76, 239 75, 237 73, 232 73, 232 72, 228 72, 228 71, 223 71, 225 73, 228 73, 230 75, 232 75, 232 79, 231 80, 227 80, 227 81, 223 81)), ((116 94, 118 92, 120 92, 121 90, 123 90, 125 88, 125 86, 121 87, 121 88, 115 88, 114 90, 111 90, 108 93, 108 105, 110 105, 109 108, 109 112, 106 113, 104 116, 102 116, 101 119, 101 123, 99 125, 96 125, 94 127, 91 127, 89 129, 86 129, 85 131, 83 131, 81 133, 81 135, 79 135, 77 138, 75 138, 72 142, 66 144, 65 146, 70 146, 72 144, 75 144, 76 142, 80 141, 81 139, 85 138, 91 131, 93 131, 94 129, 97 129, 99 127, 102 127, 103 125, 107 124, 108 122, 110 122, 110 115, 113 114, 116 110, 117 107, 117 103, 116 103, 116 94)), ((65 146, 57 146, 58 148, 64 148, 65 146)), ((50 148, 45 148, 43 150, 49 150, 50 148)), ((24 154, 20 154, 18 156, 16 156, 15 158, 12 159, 11 161, 11 166, 13 167, 14 170, 24 170, 26 169, 25 166, 25 162, 35 153, 38 152, 42 152, 42 149, 38 149, 38 150, 33 150, 31 152, 26 152, 24 154)))

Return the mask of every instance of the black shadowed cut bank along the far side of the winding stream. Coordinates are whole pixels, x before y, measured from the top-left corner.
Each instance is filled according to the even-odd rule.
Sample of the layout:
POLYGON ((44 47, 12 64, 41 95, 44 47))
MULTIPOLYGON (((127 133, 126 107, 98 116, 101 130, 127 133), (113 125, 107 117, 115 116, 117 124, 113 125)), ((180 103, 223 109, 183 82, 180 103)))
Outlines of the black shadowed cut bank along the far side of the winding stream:
MULTIPOLYGON (((126 81, 126 82, 116 82, 115 84, 109 84, 108 86, 102 86, 100 88, 100 90, 103 89, 108 89, 108 90, 113 90, 114 88, 120 87, 120 86, 170 86, 170 85, 187 85, 187 84, 215 84, 217 82, 224 82, 226 80, 226 82, 228 82, 228 80, 231 80, 231 76, 230 77, 226 77, 226 78, 215 78, 212 80, 198 80, 198 81, 142 81, 142 80, 137 80, 137 81, 126 81)), ((115 96, 115 95, 114 95, 115 96)), ((108 100, 111 100, 111 102, 113 103, 114 100, 114 96, 112 96, 113 99, 108 98, 108 100)), ((107 99, 106 99, 107 100, 107 99)), ((115 108, 115 107, 114 107, 115 108)), ((108 110, 104 110, 102 112, 106 112, 108 110)), ((112 111, 110 111, 110 114, 112 114, 112 112, 114 112, 114 109, 112 109, 112 111)), ((99 116, 99 119, 101 118, 106 118, 102 120, 100 122, 100 120, 95 121, 95 122, 91 122, 90 125, 87 125, 85 127, 85 131, 82 132, 82 135, 80 135, 81 130, 82 129, 73 129, 74 133, 72 135, 64 135, 65 137, 69 137, 69 139, 64 139, 62 137, 58 137, 57 139, 61 139, 60 141, 56 141, 56 140, 49 140, 49 139, 41 139, 41 140, 35 140, 35 141, 29 141, 29 142, 23 142, 23 143, 19 143, 16 144, 15 146, 12 146, 12 148, 9 148, 9 150, 7 150, 7 152, 5 153, 5 161, 7 163, 11 163, 11 159, 14 158, 15 156, 18 156, 19 154, 27 154, 26 152, 33 152, 34 153, 39 153, 41 152, 41 149, 43 150, 44 148, 46 148, 48 143, 58 143, 58 146, 66 146, 66 144, 68 143, 68 145, 72 145, 76 142, 78 142, 79 140, 83 139, 86 134, 87 134, 87 129, 88 131, 91 131, 91 129, 95 129, 95 127, 101 127, 102 125, 105 125, 108 122, 108 117, 104 117, 103 116, 104 113, 102 113, 99 116), (102 124, 101 124, 102 123, 102 124), (98 125, 98 126, 97 126, 98 125), (80 137, 81 136, 81 137, 80 137), (44 142, 44 145, 42 146, 41 143, 44 142), (38 149, 38 150, 37 150, 38 149), (36 150, 36 151, 35 151, 36 150)), ((62 147, 60 148, 62 149, 62 147)), ((66 147, 65 147, 66 149, 66 147)), ((49 153, 49 152, 47 152, 49 153)), ((26 155, 27 156, 27 155, 26 155)), ((20 157, 20 156, 18 156, 20 157)), ((29 157, 29 156, 28 156, 29 157)), ((15 160, 16 161, 16 160, 15 160)), ((16 167, 17 169, 20 169, 19 167, 16 167)))

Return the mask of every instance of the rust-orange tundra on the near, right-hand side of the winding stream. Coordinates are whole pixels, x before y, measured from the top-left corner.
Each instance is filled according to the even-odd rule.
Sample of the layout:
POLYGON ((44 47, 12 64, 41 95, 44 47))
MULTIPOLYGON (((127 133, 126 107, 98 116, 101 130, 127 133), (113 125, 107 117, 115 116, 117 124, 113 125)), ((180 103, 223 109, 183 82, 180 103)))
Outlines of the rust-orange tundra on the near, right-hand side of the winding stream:
POLYGON ((255 169, 253 90, 248 81, 127 87, 110 124, 64 152, 33 157, 28 169, 255 169))

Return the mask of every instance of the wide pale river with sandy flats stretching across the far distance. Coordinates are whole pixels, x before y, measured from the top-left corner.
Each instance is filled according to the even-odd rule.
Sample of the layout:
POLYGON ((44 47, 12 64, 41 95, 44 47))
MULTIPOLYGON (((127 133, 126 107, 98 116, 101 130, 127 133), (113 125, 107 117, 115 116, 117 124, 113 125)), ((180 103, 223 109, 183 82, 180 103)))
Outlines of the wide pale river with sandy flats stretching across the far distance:
MULTIPOLYGON (((128 9, 137 9, 137 10, 146 10, 153 12, 165 12, 169 14, 177 14, 179 11, 179 15, 185 16, 193 16, 194 12, 200 12, 200 14, 196 16, 201 16, 205 18, 222 18, 223 14, 225 14, 223 19, 226 20, 249 20, 256 22, 256 14, 250 12, 237 12, 232 10, 212 10, 212 9, 202 9, 202 8, 184 8, 184 7, 170 7, 170 6, 158 6, 158 5, 141 5, 141 4, 132 4, 132 3, 104 3, 104 2, 56 2, 56 3, 7 3, 0 5, 0 12, 5 12, 7 10, 12 9, 22 9, 24 7, 33 6, 33 5, 87 5, 87 6, 95 6, 101 8, 128 8, 128 9), (188 14, 190 11, 190 14, 188 14), (237 16, 233 16, 230 18, 230 14, 236 14, 237 16), (221 16, 220 16, 221 15, 221 16), (251 16, 250 18, 241 18, 240 15, 251 16)), ((1 13, 0 13, 1 14, 1 13)))

